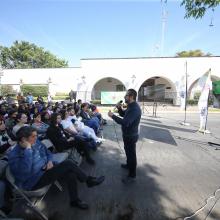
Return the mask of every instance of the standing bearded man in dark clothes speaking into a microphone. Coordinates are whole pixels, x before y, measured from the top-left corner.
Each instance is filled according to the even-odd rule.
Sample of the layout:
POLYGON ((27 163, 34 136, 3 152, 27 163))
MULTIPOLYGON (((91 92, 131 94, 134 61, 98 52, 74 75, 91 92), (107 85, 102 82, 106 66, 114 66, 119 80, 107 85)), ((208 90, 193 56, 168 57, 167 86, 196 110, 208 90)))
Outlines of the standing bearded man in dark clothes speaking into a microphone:
POLYGON ((116 106, 122 118, 117 117, 111 111, 108 112, 108 116, 122 127, 127 163, 121 164, 121 167, 129 171, 128 176, 122 179, 122 182, 125 184, 134 182, 136 179, 136 143, 139 137, 138 128, 141 119, 141 109, 136 102, 136 98, 137 92, 134 89, 129 89, 125 95, 125 103, 128 105, 127 109, 123 110, 121 106, 116 106))

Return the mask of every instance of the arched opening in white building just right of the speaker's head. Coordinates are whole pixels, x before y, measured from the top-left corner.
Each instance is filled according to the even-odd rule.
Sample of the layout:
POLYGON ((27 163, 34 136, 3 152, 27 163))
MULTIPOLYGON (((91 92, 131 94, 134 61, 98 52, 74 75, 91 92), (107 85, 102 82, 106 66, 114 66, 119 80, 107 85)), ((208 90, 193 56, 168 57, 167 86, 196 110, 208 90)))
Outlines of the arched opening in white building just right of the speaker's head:
POLYGON ((174 104, 177 92, 171 80, 155 76, 144 81, 138 91, 138 101, 161 101, 174 104))

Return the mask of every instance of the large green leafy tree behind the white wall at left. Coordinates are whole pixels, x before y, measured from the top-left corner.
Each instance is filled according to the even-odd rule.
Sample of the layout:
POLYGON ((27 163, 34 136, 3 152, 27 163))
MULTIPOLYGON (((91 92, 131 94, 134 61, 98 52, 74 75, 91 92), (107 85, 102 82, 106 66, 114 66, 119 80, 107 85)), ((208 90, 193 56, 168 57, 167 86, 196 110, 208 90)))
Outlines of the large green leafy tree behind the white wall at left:
POLYGON ((59 59, 44 48, 26 41, 15 41, 11 47, 0 46, 0 64, 3 68, 56 68, 67 67, 68 62, 59 59))

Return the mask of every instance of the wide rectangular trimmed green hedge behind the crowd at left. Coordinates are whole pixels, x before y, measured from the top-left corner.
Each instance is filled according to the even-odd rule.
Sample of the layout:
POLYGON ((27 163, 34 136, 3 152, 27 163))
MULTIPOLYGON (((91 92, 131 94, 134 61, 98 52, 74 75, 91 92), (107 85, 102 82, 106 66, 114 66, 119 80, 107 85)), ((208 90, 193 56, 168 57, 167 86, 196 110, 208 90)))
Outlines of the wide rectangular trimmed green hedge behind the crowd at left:
POLYGON ((34 85, 23 85, 21 86, 21 91, 24 96, 28 93, 31 93, 33 96, 47 96, 48 95, 48 86, 34 86, 34 85))

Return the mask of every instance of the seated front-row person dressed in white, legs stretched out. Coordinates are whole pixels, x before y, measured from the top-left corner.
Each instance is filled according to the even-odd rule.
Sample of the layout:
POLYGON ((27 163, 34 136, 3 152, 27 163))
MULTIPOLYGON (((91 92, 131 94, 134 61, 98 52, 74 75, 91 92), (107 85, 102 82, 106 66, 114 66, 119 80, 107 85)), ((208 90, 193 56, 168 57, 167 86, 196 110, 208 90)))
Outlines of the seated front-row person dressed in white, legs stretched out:
POLYGON ((104 141, 104 139, 102 138, 99 138, 96 136, 94 130, 86 125, 84 125, 83 122, 81 122, 75 115, 75 110, 73 108, 68 108, 67 109, 68 113, 69 113, 69 116, 67 117, 67 120, 71 121, 77 132, 79 132, 80 134, 88 137, 88 138, 92 138, 95 143, 97 144, 101 144, 102 141, 104 141))

